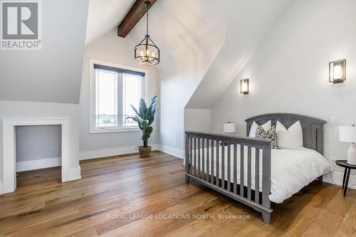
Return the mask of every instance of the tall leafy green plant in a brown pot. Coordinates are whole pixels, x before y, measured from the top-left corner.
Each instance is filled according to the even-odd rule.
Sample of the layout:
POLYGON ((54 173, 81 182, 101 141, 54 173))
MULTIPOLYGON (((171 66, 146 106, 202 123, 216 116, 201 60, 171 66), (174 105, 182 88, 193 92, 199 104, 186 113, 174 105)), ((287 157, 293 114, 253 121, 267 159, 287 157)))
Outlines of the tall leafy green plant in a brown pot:
POLYGON ((152 122, 155 120, 157 95, 150 100, 148 106, 143 98, 140 100, 138 110, 131 105, 132 110, 135 111, 135 116, 126 117, 137 122, 138 127, 142 130, 143 146, 139 146, 140 157, 150 157, 152 147, 148 145, 148 139, 153 131, 152 122))

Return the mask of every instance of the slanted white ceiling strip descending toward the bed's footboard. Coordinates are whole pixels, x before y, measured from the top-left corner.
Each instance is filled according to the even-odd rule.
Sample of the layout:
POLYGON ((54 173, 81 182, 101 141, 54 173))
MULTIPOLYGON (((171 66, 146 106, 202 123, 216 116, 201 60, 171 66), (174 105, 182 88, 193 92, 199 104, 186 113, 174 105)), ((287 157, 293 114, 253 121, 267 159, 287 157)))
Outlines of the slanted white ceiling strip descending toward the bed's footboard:
MULTIPOLYGON (((186 107, 209 109, 224 93, 234 77, 292 0, 227 1, 224 45, 214 58, 186 107)), ((215 1, 214 4, 221 4, 215 1)))

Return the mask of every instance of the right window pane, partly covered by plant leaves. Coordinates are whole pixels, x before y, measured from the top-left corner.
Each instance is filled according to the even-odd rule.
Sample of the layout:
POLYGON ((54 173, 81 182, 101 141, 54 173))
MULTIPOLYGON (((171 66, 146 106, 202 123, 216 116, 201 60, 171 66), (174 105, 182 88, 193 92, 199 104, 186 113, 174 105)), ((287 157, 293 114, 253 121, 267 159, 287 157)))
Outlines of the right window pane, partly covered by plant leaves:
POLYGON ((137 125, 135 121, 125 120, 125 118, 136 115, 131 105, 138 110, 140 99, 143 97, 142 85, 143 78, 141 76, 126 73, 122 75, 122 121, 124 121, 124 126, 137 125))

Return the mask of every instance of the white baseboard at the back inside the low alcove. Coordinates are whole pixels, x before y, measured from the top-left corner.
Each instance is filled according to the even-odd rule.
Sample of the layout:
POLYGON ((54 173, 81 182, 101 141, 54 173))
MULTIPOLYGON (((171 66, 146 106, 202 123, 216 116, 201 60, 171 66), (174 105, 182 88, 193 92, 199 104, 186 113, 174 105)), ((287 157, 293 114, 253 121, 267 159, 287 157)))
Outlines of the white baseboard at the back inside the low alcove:
POLYGON ((45 169, 49 167, 59 167, 62 164, 61 157, 48 159, 35 159, 27 162, 16 162, 16 172, 23 172, 33 169, 45 169))

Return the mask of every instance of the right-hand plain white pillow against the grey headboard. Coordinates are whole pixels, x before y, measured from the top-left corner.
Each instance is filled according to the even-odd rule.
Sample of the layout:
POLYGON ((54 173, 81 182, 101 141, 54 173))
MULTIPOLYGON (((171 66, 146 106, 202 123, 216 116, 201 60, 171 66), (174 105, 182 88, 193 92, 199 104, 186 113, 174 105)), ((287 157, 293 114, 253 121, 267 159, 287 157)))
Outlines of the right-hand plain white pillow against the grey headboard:
POLYGON ((280 149, 299 149, 303 147, 303 130, 300 121, 286 129, 281 122, 276 124, 277 142, 280 149))

